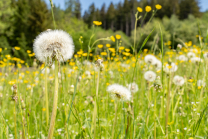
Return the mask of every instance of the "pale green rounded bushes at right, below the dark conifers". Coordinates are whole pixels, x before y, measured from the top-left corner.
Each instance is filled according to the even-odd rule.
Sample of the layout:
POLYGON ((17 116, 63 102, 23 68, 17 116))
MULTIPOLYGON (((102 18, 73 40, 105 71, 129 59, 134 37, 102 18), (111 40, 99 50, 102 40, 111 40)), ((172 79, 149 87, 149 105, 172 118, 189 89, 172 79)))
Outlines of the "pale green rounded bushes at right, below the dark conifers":
MULTIPOLYGON (((155 31, 153 32, 152 36, 149 38, 148 42, 146 43, 145 48, 152 49, 152 47, 158 48, 160 46, 160 30, 159 25, 162 28, 164 42, 171 41, 171 47, 176 48, 177 44, 182 44, 185 42, 192 41, 193 44, 199 43, 199 38, 196 37, 199 34, 199 27, 201 36, 206 38, 206 30, 208 20, 207 17, 208 13, 205 13, 202 19, 195 18, 193 15, 189 15, 189 17, 183 21, 179 20, 176 15, 172 15, 171 18, 164 17, 162 20, 154 19, 152 22, 147 23, 142 28, 137 28, 137 38, 136 44, 137 49, 141 47, 142 42, 145 38, 149 35, 152 29, 155 27, 155 31), (198 27, 199 25, 199 27, 198 27)), ((134 31, 132 31, 131 43, 133 44, 134 40, 134 31)))

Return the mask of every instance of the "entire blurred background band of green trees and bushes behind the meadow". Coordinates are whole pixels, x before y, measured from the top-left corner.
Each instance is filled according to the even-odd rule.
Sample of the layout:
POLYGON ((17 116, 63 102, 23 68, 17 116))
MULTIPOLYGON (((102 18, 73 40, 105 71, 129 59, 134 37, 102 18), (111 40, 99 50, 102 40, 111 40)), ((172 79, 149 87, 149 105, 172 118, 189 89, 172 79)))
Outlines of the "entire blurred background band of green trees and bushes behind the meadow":
MULTIPOLYGON (((179 43, 179 39, 184 41, 197 42, 195 37, 198 34, 197 22, 206 30, 208 23, 208 13, 204 15, 199 11, 198 0, 124 0, 123 3, 113 4, 109 7, 103 4, 101 9, 92 4, 81 16, 81 4, 79 0, 65 0, 65 9, 53 5, 54 16, 57 29, 68 32, 75 44, 76 51, 87 50, 91 34, 93 33, 92 23, 94 20, 102 21, 102 25, 96 29, 96 34, 92 39, 94 42, 98 38, 105 38, 111 35, 120 34, 122 45, 130 47, 133 44, 132 30, 135 26, 135 13, 137 7, 143 8, 140 16, 145 15, 145 6, 150 5, 155 9, 156 4, 161 4, 163 8, 157 11, 155 19, 146 24, 152 12, 147 14, 143 24, 138 21, 137 45, 140 47, 145 37, 150 31, 161 25, 164 32, 165 41, 179 43), (202 18, 198 18, 201 17, 202 18), (80 36, 82 39, 80 41, 80 36), (82 43, 80 43, 82 42, 82 43)), ((6 52, 12 56, 27 59, 27 50, 32 50, 35 37, 47 29, 54 29, 50 5, 44 0, 1 0, 0 1, 0 48, 7 49, 6 52), (21 49, 15 51, 14 47, 21 49)), ((145 48, 151 48, 159 43, 158 28, 153 32, 145 48), (155 43, 156 42, 156 43, 155 43)), ((99 42, 110 43, 111 41, 99 42)), ((101 51, 101 50, 100 50, 101 51)))

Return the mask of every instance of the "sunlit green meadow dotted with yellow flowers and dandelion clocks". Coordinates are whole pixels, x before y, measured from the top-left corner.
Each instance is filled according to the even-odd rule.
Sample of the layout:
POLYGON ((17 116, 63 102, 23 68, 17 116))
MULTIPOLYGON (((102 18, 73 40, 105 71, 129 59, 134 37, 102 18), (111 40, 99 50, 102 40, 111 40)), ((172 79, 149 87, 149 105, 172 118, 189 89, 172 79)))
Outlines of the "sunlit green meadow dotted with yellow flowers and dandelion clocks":
MULTIPOLYGON (((94 21, 94 28, 100 24, 94 21)), ((55 35, 49 45, 37 37, 27 60, 0 49, 0 138, 207 138, 208 38, 199 33, 196 44, 181 41, 172 49, 158 33, 161 44, 151 49, 144 47, 152 33, 136 48, 136 29, 131 48, 119 34, 74 54, 66 41, 66 59, 55 35)))

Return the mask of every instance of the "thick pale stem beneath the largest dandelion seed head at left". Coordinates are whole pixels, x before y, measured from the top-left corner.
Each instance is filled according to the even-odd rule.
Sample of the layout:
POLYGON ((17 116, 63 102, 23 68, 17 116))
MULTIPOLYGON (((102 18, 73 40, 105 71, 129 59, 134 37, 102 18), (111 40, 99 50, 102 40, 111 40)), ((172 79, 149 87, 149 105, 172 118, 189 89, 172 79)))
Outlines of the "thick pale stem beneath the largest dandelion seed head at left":
POLYGON ((54 130, 55 120, 56 120, 57 104, 58 104, 58 61, 55 60, 55 92, 54 92, 54 99, 53 99, 51 123, 50 123, 50 128, 48 131, 48 139, 53 138, 53 130, 54 130))

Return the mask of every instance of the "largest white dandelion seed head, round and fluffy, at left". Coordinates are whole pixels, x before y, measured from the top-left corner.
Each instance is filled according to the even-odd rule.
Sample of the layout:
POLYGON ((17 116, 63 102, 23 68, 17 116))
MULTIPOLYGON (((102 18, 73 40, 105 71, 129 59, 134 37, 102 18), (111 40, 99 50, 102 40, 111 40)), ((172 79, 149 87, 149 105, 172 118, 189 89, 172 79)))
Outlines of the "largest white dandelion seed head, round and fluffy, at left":
POLYGON ((56 56, 59 62, 66 61, 73 56, 74 43, 71 36, 63 30, 48 30, 40 33, 33 44, 36 58, 46 62, 56 56))

